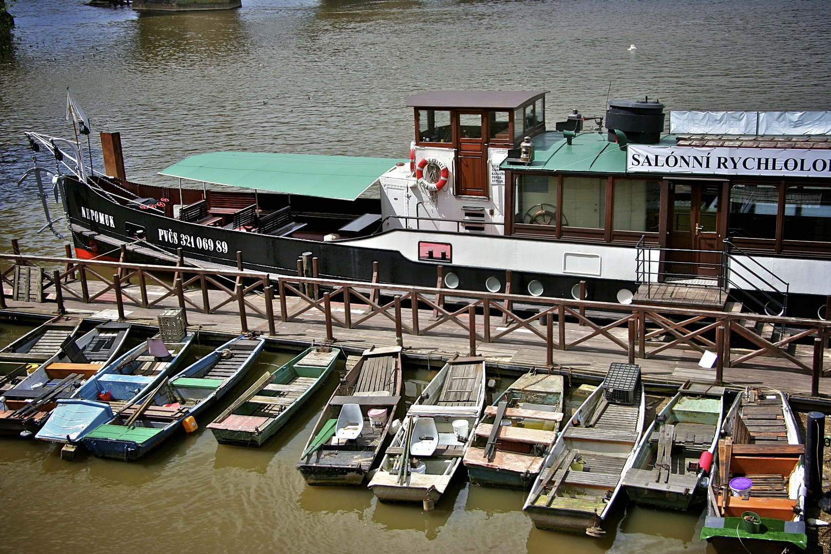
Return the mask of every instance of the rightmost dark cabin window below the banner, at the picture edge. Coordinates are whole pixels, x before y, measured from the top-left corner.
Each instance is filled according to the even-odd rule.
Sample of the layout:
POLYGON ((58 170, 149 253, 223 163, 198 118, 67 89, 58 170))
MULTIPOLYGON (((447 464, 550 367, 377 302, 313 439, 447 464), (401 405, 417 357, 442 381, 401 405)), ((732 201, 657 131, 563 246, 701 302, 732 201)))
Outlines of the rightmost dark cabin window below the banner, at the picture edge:
POLYGON ((785 191, 784 239, 831 242, 831 189, 802 186, 785 191))

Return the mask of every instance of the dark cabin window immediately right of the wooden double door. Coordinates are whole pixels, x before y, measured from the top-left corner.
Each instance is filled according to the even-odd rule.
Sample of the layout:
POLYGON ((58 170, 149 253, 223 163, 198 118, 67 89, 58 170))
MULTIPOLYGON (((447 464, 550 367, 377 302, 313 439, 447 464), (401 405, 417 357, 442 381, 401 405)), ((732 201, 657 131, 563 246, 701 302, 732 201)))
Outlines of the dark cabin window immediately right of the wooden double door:
POLYGON ((730 187, 731 238, 776 238, 779 187, 771 184, 733 184, 730 187))

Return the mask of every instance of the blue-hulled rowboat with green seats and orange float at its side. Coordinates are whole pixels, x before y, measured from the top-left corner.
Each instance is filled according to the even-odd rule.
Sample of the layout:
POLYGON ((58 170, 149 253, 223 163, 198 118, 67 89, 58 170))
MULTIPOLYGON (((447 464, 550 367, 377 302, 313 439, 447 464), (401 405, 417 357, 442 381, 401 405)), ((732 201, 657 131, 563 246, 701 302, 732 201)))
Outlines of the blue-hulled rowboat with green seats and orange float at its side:
POLYGON ((246 335, 226 342, 119 409, 83 438, 84 446, 99 458, 140 458, 231 390, 264 345, 264 339, 246 335))

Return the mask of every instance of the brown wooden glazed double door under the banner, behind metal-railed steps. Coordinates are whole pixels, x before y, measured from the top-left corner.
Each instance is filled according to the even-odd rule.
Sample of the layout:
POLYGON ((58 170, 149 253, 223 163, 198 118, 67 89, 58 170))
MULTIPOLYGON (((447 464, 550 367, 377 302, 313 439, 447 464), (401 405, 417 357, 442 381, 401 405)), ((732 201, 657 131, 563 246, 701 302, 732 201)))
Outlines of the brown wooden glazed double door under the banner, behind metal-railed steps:
POLYGON ((669 186, 669 221, 665 277, 717 277, 720 252, 722 184, 673 181, 669 186))

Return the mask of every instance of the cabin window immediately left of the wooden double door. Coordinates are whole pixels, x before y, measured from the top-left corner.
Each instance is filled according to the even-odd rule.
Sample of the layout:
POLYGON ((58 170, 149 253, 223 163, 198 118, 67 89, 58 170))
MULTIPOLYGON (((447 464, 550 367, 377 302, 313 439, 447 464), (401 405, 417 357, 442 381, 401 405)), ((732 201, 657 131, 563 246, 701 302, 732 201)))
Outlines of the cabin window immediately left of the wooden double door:
POLYGON ((657 233, 661 184, 642 179, 615 179, 612 209, 614 230, 657 233))

